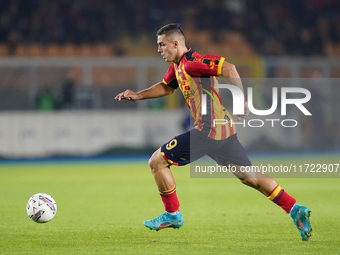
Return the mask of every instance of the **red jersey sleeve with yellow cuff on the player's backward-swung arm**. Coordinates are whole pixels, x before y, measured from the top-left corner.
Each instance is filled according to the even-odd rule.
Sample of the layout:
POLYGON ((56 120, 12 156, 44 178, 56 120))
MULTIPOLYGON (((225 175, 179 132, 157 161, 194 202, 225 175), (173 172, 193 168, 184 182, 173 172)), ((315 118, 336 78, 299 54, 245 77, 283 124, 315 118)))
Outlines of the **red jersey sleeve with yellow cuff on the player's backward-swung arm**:
POLYGON ((214 55, 203 55, 195 57, 185 68, 192 77, 221 76, 224 58, 214 55))

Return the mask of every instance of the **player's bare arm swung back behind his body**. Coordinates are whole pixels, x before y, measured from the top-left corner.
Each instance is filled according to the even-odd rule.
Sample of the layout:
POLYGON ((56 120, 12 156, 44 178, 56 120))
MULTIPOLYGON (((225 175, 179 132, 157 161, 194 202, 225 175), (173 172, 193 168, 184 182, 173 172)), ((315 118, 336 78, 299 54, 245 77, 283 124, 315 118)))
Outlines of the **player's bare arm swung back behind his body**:
MULTIPOLYGON (((244 95, 244 89, 241 82, 240 75, 238 74, 236 67, 233 64, 230 64, 228 62, 224 62, 222 65, 222 77, 226 80, 228 84, 235 85, 239 89, 242 90, 242 93, 244 95)), ((244 114, 243 115, 237 115, 236 118, 238 121, 242 120, 243 118, 246 118, 250 113, 248 103, 244 103, 244 114)))

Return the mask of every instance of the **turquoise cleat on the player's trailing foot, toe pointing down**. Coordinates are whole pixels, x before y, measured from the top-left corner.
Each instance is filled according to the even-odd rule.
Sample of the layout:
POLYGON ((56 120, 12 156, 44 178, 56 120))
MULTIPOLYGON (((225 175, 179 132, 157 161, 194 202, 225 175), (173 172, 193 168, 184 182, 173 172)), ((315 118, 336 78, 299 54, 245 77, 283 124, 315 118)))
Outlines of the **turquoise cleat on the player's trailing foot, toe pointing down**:
POLYGON ((309 222, 311 211, 301 205, 294 205, 290 217, 292 217, 293 222, 300 232, 302 241, 308 241, 312 236, 312 227, 309 222))

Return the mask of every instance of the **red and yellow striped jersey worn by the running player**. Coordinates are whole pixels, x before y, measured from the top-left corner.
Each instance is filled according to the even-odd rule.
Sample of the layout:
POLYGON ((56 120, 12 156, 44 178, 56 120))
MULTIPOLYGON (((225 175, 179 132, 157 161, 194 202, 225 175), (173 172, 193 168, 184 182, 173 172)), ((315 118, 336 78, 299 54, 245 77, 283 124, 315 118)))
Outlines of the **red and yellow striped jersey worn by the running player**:
POLYGON ((219 90, 215 88, 216 76, 221 75, 223 62, 222 57, 202 56, 189 48, 177 64, 170 65, 163 79, 167 86, 181 89, 191 110, 195 129, 215 140, 224 140, 236 133, 234 121, 231 125, 232 117, 222 105, 219 90), (203 94, 207 99, 206 114, 202 114, 203 94), (226 120, 225 124, 221 120, 226 120))

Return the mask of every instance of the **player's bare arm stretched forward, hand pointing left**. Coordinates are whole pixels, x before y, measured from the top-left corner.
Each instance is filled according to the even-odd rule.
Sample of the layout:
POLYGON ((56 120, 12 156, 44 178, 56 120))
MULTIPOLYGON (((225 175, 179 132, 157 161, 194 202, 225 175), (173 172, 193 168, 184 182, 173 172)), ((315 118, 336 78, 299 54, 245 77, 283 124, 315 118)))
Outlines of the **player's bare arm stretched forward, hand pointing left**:
POLYGON ((115 99, 117 101, 121 101, 122 99, 128 101, 137 101, 151 98, 164 97, 167 95, 171 95, 175 92, 175 89, 165 85, 163 82, 156 83, 150 88, 144 89, 140 92, 134 92, 132 90, 125 90, 122 93, 119 93, 115 99))

